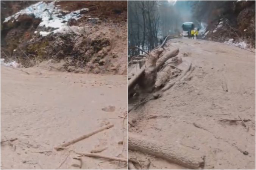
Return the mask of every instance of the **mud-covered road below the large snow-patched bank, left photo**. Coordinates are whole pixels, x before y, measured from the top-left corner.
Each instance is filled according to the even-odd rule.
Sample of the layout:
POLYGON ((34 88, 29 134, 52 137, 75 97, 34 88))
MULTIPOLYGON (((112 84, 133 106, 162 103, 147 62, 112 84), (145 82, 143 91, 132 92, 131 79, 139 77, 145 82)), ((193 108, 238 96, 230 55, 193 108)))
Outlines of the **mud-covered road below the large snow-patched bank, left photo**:
MULTIPOLYGON (((1 66, 1 168, 79 169, 74 152, 102 149, 127 158, 127 77, 1 66), (102 110, 111 107, 110 112, 102 110), (114 108, 114 109, 113 109, 114 108), (114 127, 70 145, 54 147, 99 129, 114 127), (120 141, 124 141, 123 144, 120 141)), ((82 157, 82 169, 126 169, 126 164, 82 157)))

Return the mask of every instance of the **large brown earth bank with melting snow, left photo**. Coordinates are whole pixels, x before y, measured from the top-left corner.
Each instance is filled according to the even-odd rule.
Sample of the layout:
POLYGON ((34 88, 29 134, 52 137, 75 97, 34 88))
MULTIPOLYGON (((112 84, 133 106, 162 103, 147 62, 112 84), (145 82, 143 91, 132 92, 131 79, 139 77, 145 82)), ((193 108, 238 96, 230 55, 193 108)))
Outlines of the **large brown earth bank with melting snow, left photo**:
POLYGON ((126 74, 127 2, 60 1, 54 5, 61 9, 57 17, 73 12, 79 18, 63 21, 66 26, 57 32, 58 28, 40 25, 45 18, 33 14, 3 22, 1 56, 6 62, 68 72, 126 74))

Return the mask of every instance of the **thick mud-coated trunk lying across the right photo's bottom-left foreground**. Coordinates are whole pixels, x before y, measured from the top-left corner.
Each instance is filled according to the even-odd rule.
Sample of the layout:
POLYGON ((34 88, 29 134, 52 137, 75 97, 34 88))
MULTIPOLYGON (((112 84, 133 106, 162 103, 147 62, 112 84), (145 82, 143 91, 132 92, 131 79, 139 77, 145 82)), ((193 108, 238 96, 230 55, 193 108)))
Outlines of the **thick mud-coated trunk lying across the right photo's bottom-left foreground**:
POLYGON ((176 163, 190 169, 202 169, 204 167, 204 155, 198 150, 183 147, 176 142, 161 142, 145 138, 145 136, 129 133, 128 149, 154 155, 167 161, 176 163))

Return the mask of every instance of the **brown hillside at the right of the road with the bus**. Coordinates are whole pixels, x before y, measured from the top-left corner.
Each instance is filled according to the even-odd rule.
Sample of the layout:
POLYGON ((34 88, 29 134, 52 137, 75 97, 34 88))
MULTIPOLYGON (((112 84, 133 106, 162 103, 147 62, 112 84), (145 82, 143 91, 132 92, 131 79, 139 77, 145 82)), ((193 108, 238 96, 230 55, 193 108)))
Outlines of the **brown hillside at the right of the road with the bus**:
POLYGON ((229 43, 244 41, 247 45, 241 47, 255 48, 255 1, 230 1, 220 8, 215 10, 218 19, 209 23, 205 38, 229 43))

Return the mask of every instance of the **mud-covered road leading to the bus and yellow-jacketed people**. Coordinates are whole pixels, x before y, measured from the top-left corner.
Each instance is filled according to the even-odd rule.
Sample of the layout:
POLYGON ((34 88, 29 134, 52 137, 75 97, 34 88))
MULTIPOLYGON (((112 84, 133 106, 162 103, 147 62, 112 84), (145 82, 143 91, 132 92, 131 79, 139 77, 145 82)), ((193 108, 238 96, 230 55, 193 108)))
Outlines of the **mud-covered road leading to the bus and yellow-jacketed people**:
MULTIPOLYGON (((169 40, 168 47, 178 47, 195 69, 185 83, 131 110, 129 133, 197 150, 204 169, 255 169, 255 53, 185 38, 169 40), (246 128, 231 121, 239 116, 250 119, 246 128)), ((183 168, 130 150, 129 157, 150 158, 150 169, 183 168)))

